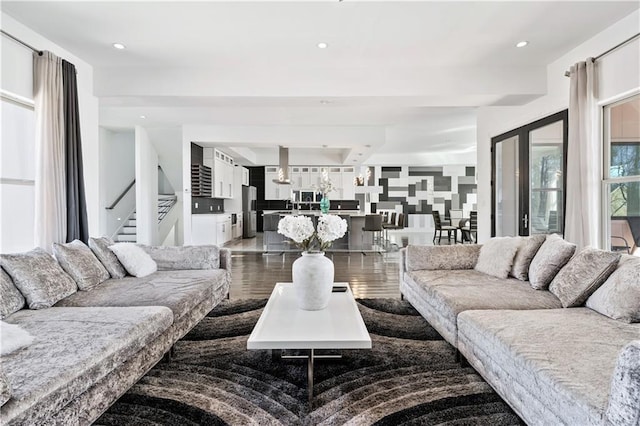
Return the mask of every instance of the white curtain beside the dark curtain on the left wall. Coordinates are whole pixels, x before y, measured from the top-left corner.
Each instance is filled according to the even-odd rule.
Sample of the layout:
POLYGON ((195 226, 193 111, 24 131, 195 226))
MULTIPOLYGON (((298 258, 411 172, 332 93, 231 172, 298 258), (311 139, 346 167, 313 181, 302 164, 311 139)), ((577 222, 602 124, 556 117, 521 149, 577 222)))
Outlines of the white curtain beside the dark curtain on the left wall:
POLYGON ((35 53, 33 92, 36 116, 35 244, 51 252, 65 242, 67 199, 62 92, 62 59, 35 53))

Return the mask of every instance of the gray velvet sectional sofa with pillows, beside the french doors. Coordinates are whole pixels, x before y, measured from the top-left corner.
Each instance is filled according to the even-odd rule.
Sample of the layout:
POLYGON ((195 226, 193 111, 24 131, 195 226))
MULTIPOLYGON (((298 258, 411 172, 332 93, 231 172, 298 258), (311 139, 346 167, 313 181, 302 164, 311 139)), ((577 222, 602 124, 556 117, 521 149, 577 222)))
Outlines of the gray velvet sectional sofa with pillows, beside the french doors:
POLYGON ((408 246, 400 292, 527 424, 640 425, 640 258, 527 238, 485 253, 507 276, 480 245, 408 246))

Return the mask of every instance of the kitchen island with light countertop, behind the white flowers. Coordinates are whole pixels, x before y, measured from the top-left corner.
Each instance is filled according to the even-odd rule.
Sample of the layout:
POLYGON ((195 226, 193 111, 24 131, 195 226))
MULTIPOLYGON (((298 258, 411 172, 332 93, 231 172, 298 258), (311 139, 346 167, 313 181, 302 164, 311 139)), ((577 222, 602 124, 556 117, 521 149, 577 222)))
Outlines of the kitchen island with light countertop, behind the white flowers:
MULTIPOLYGON (((311 216, 312 220, 322 213, 317 210, 265 210, 263 212, 264 251, 265 253, 281 253, 283 251, 299 251, 290 240, 278 234, 278 222, 285 216, 311 216)), ((327 251, 362 251, 371 250, 373 238, 371 232, 363 232, 365 214, 359 210, 329 210, 347 221, 347 233, 336 240, 327 251)))

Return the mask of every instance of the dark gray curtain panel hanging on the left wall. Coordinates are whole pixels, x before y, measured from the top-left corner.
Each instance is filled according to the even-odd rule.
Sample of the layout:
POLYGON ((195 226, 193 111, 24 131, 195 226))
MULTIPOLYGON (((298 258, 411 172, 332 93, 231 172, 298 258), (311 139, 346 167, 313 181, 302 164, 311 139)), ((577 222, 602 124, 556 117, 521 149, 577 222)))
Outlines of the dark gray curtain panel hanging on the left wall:
POLYGON ((64 139, 67 177, 67 242, 89 241, 87 200, 84 194, 82 144, 76 67, 62 60, 62 91, 64 94, 64 139))

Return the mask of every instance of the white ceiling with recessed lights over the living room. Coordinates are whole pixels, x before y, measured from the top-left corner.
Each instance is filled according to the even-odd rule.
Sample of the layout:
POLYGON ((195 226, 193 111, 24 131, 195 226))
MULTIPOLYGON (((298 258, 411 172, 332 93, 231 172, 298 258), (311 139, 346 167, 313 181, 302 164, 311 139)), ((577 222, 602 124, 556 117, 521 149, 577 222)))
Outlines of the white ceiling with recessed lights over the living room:
POLYGON ((278 144, 327 145, 353 164, 473 150, 476 107, 521 105, 543 95, 548 63, 639 3, 3 1, 0 7, 93 65, 101 125, 200 126, 202 142, 230 144, 220 136, 229 126, 238 146, 275 153, 278 144), (516 49, 520 40, 530 45, 516 49), (321 41, 329 48, 318 49, 321 41), (127 49, 117 51, 113 42, 127 49), (261 138, 261 126, 281 139, 261 138))

